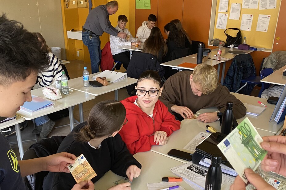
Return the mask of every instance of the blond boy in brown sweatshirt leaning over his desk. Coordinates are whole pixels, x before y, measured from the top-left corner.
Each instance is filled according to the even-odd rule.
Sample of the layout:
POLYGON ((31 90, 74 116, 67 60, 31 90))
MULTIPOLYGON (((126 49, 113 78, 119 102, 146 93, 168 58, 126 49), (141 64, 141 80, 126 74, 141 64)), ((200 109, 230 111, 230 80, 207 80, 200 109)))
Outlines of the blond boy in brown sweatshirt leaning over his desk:
MULTIPOLYGON (((246 114, 243 103, 230 94, 227 87, 218 83, 217 71, 207 64, 198 64, 193 72, 181 71, 169 77, 159 99, 179 120, 192 118, 193 113, 202 108, 217 107, 223 112, 228 101, 233 102, 233 115, 236 119, 246 114)), ((215 122, 220 114, 222 113, 203 113, 197 119, 205 123, 215 122)))

